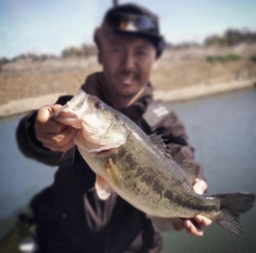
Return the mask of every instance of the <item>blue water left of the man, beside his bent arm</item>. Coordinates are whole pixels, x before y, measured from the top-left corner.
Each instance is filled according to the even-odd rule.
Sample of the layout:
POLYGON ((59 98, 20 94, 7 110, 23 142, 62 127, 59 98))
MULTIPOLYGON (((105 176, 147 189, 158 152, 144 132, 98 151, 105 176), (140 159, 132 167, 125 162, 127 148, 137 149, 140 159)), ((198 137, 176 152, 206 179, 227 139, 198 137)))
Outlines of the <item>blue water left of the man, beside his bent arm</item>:
POLYGON ((0 240, 26 210, 32 196, 53 182, 56 167, 26 158, 18 150, 15 131, 20 118, 0 120, 0 240))

